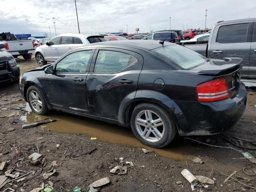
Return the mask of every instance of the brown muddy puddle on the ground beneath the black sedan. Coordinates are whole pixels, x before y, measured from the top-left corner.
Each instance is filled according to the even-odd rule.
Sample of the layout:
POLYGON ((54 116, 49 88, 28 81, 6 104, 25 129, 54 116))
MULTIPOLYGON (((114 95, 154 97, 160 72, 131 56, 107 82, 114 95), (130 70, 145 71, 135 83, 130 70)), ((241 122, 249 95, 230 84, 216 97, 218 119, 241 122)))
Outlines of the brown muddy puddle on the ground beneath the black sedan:
POLYGON ((22 116, 22 121, 32 123, 46 118, 57 120, 56 122, 41 125, 40 128, 44 131, 87 134, 101 141, 154 150, 160 156, 169 158, 185 159, 191 150, 195 150, 195 147, 191 146, 189 141, 182 138, 176 138, 169 146, 162 149, 150 148, 140 143, 132 134, 130 128, 57 111, 53 111, 49 116, 40 116, 31 112, 28 105, 27 110, 29 112, 26 116, 22 116))

